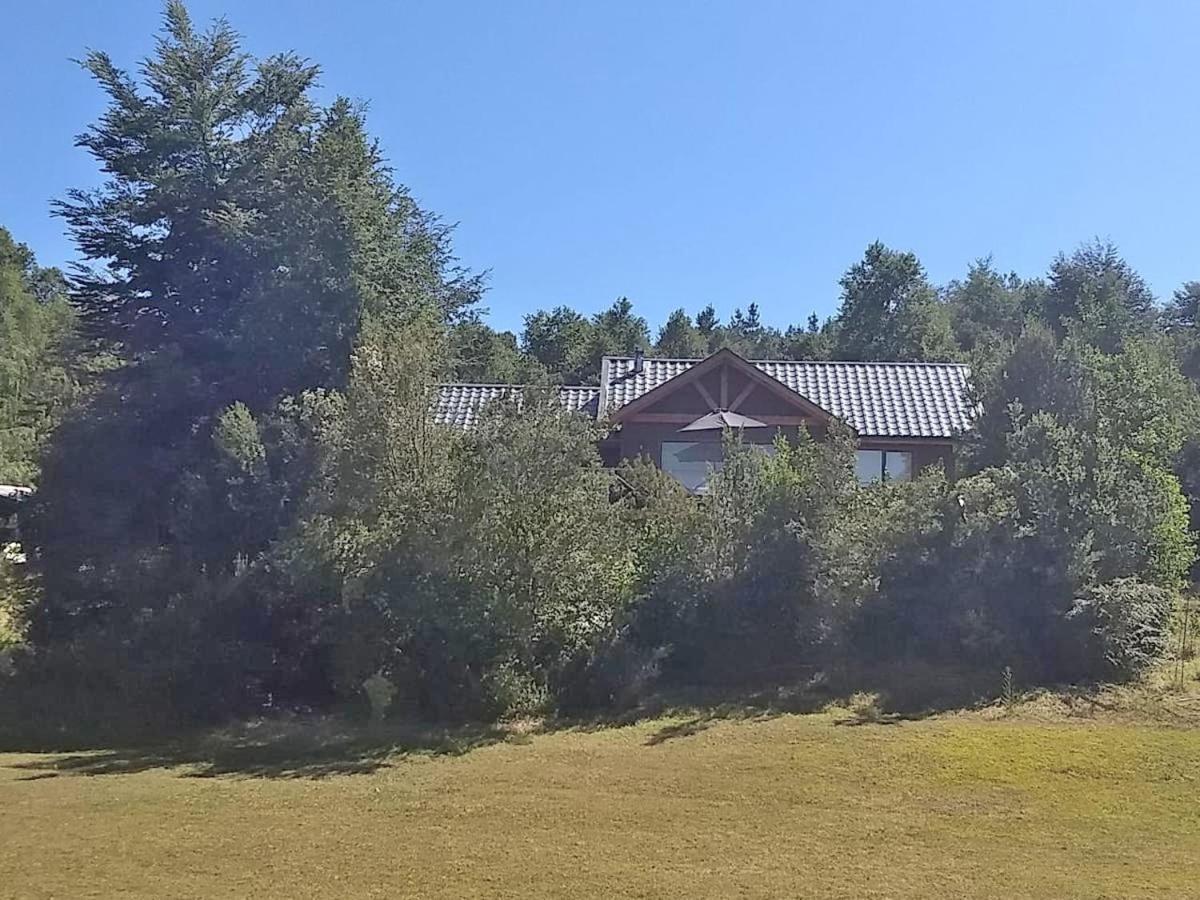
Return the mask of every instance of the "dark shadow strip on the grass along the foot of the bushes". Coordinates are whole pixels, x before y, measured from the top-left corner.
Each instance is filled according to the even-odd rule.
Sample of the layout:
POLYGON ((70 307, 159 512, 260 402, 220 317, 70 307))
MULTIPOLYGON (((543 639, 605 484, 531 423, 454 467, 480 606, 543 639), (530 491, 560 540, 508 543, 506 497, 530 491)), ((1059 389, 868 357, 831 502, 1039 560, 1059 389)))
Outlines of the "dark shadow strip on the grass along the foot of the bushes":
POLYGON ((978 706, 984 696, 980 685, 961 673, 906 666, 900 672, 886 668, 836 676, 809 673, 790 684, 775 683, 768 688, 667 690, 632 709, 593 718, 553 719, 524 730, 486 724, 367 727, 336 716, 293 715, 166 742, 131 740, 118 744, 119 749, 64 752, 67 746, 62 742, 54 746, 49 743, 22 745, 19 742, 13 745, 5 740, 0 750, 43 754, 11 766, 25 770, 24 778, 29 780, 136 774, 150 769, 175 769, 187 778, 323 779, 371 774, 412 756, 457 756, 499 742, 529 743, 530 734, 601 731, 665 716, 678 721, 654 731, 644 740, 646 746, 695 737, 719 721, 762 720, 830 707, 846 710, 846 716, 834 724, 898 724, 978 706), (857 714, 852 703, 847 706, 846 698, 862 691, 875 691, 871 696, 877 697, 877 708, 870 715, 857 714))

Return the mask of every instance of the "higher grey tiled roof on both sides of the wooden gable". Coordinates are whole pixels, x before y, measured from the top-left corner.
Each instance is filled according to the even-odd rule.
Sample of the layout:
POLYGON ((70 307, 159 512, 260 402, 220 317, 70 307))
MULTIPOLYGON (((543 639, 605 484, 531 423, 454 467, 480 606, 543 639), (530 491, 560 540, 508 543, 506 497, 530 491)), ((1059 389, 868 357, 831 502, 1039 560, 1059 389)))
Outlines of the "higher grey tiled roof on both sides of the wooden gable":
MULTIPOLYGON (((619 409, 701 361, 647 356, 642 372, 632 374, 631 356, 607 358, 606 412, 619 409)), ((970 370, 964 365, 749 361, 860 436, 950 438, 971 424, 970 370)))

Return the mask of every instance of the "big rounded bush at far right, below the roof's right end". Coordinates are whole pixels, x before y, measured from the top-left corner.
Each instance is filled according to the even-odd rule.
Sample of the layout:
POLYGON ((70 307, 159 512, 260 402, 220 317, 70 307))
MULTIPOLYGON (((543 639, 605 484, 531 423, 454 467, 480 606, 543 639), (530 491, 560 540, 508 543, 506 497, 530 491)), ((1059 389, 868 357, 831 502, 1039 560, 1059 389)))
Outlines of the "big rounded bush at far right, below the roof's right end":
POLYGON ((1090 626, 1079 604, 1118 580, 1182 584, 1193 550, 1177 482, 1045 413, 1009 444, 1004 466, 896 492, 902 518, 936 527, 901 532, 856 640, 877 654, 1012 665, 1031 679, 1128 674, 1136 666, 1110 658, 1140 658, 1134 649, 1081 653, 1090 626))

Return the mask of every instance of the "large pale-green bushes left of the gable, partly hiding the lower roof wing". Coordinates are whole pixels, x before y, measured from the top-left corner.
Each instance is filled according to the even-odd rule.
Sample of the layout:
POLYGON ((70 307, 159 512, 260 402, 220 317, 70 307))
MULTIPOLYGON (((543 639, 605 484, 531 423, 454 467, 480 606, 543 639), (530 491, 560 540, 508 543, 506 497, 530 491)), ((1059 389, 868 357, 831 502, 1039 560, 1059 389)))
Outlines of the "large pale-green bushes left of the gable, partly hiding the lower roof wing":
POLYGON ((618 628, 634 542, 586 420, 530 388, 468 434, 436 427, 438 359, 428 323, 366 328, 266 592, 302 606, 342 697, 382 673, 416 714, 548 708, 618 628))

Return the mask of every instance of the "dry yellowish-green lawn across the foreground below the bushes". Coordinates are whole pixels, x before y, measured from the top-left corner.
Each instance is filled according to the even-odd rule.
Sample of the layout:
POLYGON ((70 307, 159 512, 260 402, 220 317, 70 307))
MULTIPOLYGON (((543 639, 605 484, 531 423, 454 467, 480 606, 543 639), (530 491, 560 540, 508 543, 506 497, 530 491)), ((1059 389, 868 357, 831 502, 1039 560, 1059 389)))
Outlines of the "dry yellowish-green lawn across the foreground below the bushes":
POLYGON ((10 754, 0 894, 1195 898, 1188 703, 10 754))

